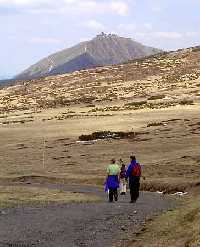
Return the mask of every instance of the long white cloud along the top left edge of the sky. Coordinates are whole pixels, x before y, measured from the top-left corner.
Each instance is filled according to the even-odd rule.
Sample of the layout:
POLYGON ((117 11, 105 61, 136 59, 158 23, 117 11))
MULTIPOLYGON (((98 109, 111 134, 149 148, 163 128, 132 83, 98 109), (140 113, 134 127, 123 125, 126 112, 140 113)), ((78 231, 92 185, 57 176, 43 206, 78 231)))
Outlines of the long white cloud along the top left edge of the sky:
POLYGON ((31 13, 115 13, 125 16, 129 6, 122 0, 0 0, 0 7, 23 9, 31 13))

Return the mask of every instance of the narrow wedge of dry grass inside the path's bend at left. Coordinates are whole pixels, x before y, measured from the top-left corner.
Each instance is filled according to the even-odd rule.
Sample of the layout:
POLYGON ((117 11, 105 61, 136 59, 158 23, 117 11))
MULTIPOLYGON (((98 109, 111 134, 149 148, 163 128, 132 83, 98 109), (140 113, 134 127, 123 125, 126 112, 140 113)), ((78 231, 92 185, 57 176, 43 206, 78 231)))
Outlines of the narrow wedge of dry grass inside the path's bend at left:
POLYGON ((97 202, 100 198, 81 193, 48 190, 36 187, 0 186, 0 207, 23 204, 46 204, 68 202, 97 202))

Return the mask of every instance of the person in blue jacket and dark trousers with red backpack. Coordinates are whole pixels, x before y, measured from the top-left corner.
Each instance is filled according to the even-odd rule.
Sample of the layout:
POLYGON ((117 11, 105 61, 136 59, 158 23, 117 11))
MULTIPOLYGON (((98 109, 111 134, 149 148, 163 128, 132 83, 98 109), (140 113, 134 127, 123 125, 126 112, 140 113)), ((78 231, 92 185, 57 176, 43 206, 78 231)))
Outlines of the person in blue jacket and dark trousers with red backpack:
POLYGON ((141 165, 137 162, 135 156, 130 156, 130 165, 126 172, 126 180, 129 180, 130 203, 135 203, 139 198, 141 165))

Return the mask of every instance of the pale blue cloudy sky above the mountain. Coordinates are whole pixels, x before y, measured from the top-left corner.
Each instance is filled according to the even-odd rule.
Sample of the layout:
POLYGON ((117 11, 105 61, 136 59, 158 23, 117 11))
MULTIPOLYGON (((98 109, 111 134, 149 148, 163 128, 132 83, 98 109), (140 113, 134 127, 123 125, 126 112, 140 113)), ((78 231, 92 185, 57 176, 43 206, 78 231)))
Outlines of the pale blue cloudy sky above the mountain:
POLYGON ((200 0, 0 0, 0 78, 100 32, 176 50, 200 45, 200 0))

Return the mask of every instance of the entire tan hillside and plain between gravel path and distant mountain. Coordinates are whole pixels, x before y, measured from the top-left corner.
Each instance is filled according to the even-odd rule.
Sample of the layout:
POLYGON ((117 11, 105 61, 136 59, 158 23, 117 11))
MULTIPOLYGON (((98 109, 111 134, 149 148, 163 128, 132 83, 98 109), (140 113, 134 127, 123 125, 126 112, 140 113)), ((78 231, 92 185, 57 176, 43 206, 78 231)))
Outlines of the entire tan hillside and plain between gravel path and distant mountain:
POLYGON ((143 189, 199 194, 199 63, 191 48, 0 90, 0 180, 102 186, 135 154, 143 189), (136 134, 79 141, 96 131, 136 134))

